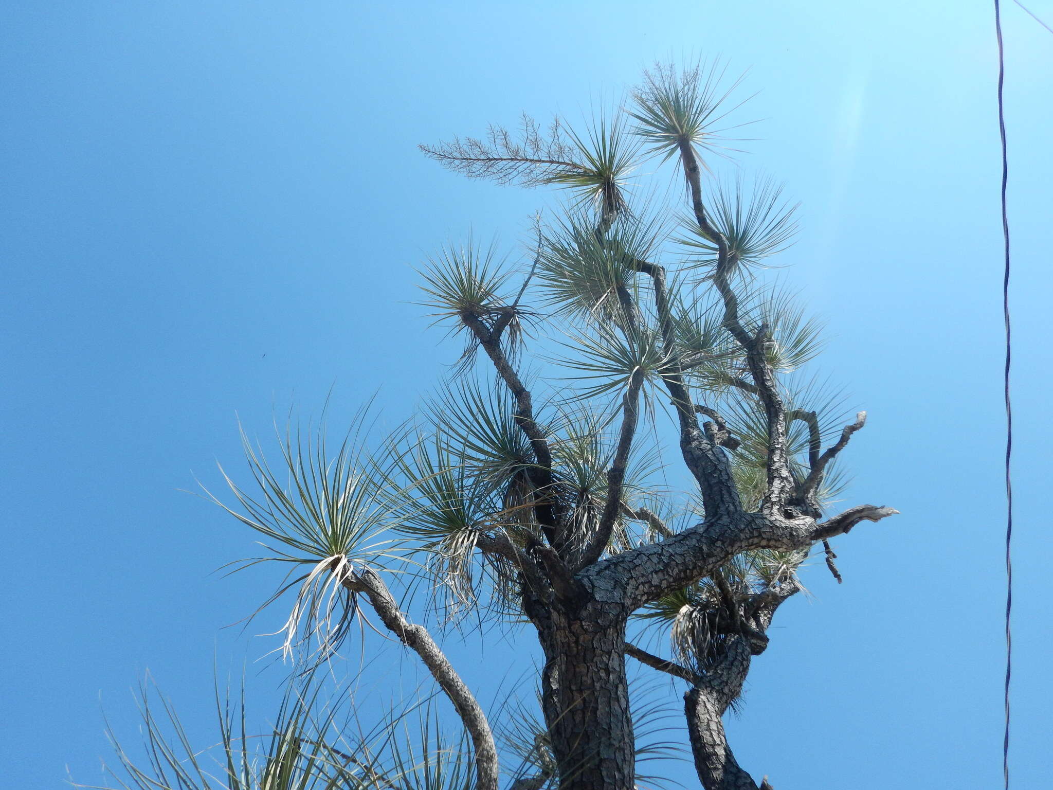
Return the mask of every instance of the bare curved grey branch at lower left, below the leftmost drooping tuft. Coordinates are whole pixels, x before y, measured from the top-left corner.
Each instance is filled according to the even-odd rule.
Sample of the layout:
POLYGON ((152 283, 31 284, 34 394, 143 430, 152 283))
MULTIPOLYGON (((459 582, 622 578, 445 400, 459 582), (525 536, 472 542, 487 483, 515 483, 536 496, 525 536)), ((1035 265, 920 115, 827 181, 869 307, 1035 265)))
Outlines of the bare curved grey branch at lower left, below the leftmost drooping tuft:
POLYGON ((341 584, 352 592, 364 593, 388 630, 420 656, 439 688, 454 704, 464 729, 472 738, 472 747, 475 752, 476 787, 479 790, 497 790, 497 747, 494 744, 494 733, 486 722, 486 715, 442 650, 435 644, 435 639, 432 638, 428 629, 423 626, 412 625, 405 618, 405 615, 399 611, 388 586, 384 585, 380 576, 369 568, 349 573, 341 579, 341 584))

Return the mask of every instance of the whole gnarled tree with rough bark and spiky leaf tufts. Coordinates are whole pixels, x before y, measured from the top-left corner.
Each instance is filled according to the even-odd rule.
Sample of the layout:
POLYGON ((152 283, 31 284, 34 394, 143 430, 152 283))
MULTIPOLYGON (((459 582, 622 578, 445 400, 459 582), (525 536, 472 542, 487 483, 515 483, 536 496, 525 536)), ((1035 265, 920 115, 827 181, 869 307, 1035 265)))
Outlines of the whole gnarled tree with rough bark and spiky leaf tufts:
POLYGON ((661 65, 579 130, 524 117, 421 146, 470 178, 568 199, 538 217, 519 265, 469 240, 422 269, 423 303, 464 351, 405 427, 371 441, 363 412, 335 450, 291 431, 274 466, 246 440, 252 485, 227 478, 223 507, 271 559, 302 569, 279 590, 295 597, 282 649, 301 671, 255 762, 239 706, 220 706, 218 774, 186 757, 170 708, 145 707, 151 757, 137 768, 120 751, 123 786, 629 790, 640 746, 628 659, 686 684, 707 790, 758 787, 722 716, 812 550, 837 576, 828 540, 896 511, 827 513, 866 414, 845 424, 808 373, 818 327, 761 280, 792 241, 794 206, 771 180, 715 174, 738 107, 724 77, 661 65), (639 197, 645 162, 658 165, 647 178, 684 187, 683 208, 676 189, 639 197), (667 482, 677 475, 686 491, 667 482), (539 717, 488 717, 400 603, 421 579, 448 619, 472 612, 536 637, 539 717), (319 705, 313 671, 351 649, 366 611, 419 656, 460 735, 440 734, 430 704, 351 737, 319 705), (668 655, 639 646, 654 629, 668 655), (417 740, 396 734, 411 719, 417 740))

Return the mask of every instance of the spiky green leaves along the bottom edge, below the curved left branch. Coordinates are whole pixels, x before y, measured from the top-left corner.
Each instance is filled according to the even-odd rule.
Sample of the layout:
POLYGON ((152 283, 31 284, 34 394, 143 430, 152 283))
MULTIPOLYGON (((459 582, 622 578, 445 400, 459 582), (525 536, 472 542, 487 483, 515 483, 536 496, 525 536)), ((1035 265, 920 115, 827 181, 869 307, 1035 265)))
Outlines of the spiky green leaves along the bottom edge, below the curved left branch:
POLYGON ((291 684, 277 715, 257 724, 238 699, 216 690, 218 740, 196 746, 152 679, 139 690, 141 758, 107 727, 114 785, 96 790, 469 790, 471 745, 440 725, 434 699, 412 698, 363 726, 347 697, 307 676, 291 684), (258 728, 258 729, 257 729, 258 728))

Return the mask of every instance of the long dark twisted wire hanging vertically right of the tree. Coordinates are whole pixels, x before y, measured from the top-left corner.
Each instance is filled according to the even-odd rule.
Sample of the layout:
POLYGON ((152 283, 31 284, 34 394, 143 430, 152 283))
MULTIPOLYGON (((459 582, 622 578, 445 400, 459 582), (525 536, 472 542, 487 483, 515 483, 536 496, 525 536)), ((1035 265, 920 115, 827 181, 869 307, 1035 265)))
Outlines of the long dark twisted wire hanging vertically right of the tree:
POLYGON ((994 0, 994 26, 998 38, 998 134, 1001 137, 1001 237, 1005 243, 1005 275, 1001 282, 1001 309, 1006 321, 1006 736, 1001 747, 1001 771, 1009 790, 1009 684, 1013 676, 1013 634, 1010 616, 1013 613, 1013 482, 1010 462, 1013 457, 1013 407, 1009 397, 1009 372, 1012 361, 1012 332, 1009 320, 1009 212, 1006 189, 1009 184, 1009 156, 1006 150, 1006 106, 1002 87, 1006 82, 1006 53, 1001 41, 1001 7, 994 0))

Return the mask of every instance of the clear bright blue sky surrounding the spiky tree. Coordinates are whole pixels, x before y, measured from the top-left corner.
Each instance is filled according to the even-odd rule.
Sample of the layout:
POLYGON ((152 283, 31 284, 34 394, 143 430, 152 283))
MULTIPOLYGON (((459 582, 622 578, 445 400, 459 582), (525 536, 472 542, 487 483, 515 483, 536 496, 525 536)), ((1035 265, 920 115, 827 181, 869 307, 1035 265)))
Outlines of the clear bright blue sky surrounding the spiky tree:
MULTIPOLYGON (((1053 36, 1006 5, 1022 788, 1049 782, 1053 732, 1053 36)), ((0 786, 57 787, 66 766, 97 781, 100 696, 134 739, 128 689, 146 668, 207 732, 214 663, 237 671, 275 647, 221 630, 275 571, 213 573, 253 555, 253 536, 181 490, 216 482, 216 458, 237 466, 236 415, 265 434, 275 410, 317 414, 331 387, 333 422, 378 388, 388 417, 409 415, 458 353, 425 331, 413 266, 470 230, 514 250, 550 199, 461 179, 416 144, 521 111, 573 118, 692 54, 748 68, 759 92, 743 164, 802 201, 783 274, 827 319, 823 370, 870 413, 846 496, 902 512, 837 541, 842 586, 813 568, 814 598, 779 612, 732 746, 779 790, 998 786, 990 6, 3 3, 0 786)), ((1029 6, 1053 20, 1050 0, 1029 6)), ((491 664, 513 653, 464 674, 492 688, 491 664)))

